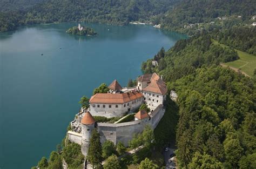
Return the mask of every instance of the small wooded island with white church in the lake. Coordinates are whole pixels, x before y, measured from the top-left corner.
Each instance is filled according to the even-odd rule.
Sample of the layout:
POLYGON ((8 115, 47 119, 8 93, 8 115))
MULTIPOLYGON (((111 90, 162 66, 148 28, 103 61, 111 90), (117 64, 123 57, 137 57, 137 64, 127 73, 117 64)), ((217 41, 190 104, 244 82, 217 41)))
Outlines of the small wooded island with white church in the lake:
POLYGON ((92 28, 88 28, 85 26, 81 26, 78 24, 78 26, 74 26, 66 31, 69 34, 72 35, 80 35, 80 36, 95 36, 97 35, 97 32, 93 30, 92 28))

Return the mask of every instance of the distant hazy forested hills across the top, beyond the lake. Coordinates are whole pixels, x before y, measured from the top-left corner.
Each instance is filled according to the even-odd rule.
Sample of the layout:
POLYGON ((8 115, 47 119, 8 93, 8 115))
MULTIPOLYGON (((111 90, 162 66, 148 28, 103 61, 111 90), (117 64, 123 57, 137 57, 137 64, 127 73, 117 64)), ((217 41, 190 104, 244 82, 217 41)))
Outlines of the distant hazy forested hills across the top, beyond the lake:
MULTIPOLYGON (((19 1, 10 2, 18 4, 19 1)), ((250 24, 250 18, 256 15, 256 5, 253 0, 23 0, 19 3, 24 6, 31 6, 26 4, 36 5, 25 11, 9 11, 8 15, 0 13, 0 31, 13 30, 19 25, 34 23, 87 21, 126 25, 131 21, 140 21, 160 23, 162 28, 192 35, 202 28, 211 30, 237 24, 250 24), (21 12, 25 13, 20 16, 21 12), (11 13, 10 17, 9 13, 11 13), (7 18, 4 20, 2 17, 7 18), (13 17, 18 17, 20 22, 15 22, 13 17), (219 20, 218 17, 227 19, 219 20), (215 24, 209 24, 211 21, 214 21, 215 24), (187 26, 198 23, 200 25, 187 26)), ((12 5, 9 8, 6 7, 8 10, 13 8, 12 5)))

